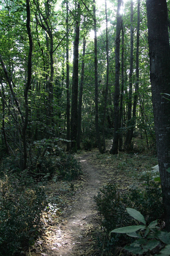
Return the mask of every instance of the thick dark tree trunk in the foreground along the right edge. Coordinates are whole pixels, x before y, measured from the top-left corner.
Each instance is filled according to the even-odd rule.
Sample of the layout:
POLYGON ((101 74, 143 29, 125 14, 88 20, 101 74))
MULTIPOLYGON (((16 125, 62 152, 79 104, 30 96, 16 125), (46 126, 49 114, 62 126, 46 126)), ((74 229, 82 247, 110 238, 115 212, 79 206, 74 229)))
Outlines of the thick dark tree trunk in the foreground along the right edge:
POLYGON ((165 226, 170 232, 170 46, 166 0, 146 0, 150 81, 165 226), (163 94, 162 94, 163 93, 163 94), (166 97, 167 98, 167 97, 166 97))

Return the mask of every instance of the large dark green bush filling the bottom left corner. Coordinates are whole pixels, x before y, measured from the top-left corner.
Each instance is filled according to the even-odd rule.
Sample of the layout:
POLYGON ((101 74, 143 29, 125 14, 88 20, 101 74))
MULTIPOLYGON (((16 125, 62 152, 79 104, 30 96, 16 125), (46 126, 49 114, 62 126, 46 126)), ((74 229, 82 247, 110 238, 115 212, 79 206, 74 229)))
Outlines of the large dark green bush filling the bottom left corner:
POLYGON ((0 180, 0 255, 19 255, 34 243, 42 230, 46 207, 42 186, 35 184, 28 171, 4 175, 0 180))

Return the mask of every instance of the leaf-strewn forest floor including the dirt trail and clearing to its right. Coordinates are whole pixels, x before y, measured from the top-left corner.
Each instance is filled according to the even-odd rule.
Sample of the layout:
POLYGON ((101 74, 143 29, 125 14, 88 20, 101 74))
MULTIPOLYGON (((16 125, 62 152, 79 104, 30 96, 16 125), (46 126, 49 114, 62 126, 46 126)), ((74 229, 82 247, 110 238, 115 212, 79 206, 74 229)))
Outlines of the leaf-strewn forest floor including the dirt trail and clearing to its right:
MULTIPOLYGON (((107 141, 108 149, 112 141, 107 141)), ((48 214, 44 213, 44 233, 29 249, 29 256, 99 256, 98 246, 101 226, 94 196, 109 181, 121 189, 134 184, 157 164, 156 156, 142 153, 99 154, 97 150, 81 151, 83 175, 75 182, 49 182, 48 214)))

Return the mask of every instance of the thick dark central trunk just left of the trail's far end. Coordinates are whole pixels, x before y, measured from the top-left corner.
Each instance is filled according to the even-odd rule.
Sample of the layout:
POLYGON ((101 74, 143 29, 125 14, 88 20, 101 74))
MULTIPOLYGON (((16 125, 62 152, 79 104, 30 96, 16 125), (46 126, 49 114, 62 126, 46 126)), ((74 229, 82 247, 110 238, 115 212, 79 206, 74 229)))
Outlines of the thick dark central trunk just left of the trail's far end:
POLYGON ((72 82, 72 104, 71 104, 71 150, 77 151, 77 105, 78 105, 78 46, 80 35, 80 4, 77 6, 77 20, 76 20, 76 33, 74 41, 74 79, 72 82))

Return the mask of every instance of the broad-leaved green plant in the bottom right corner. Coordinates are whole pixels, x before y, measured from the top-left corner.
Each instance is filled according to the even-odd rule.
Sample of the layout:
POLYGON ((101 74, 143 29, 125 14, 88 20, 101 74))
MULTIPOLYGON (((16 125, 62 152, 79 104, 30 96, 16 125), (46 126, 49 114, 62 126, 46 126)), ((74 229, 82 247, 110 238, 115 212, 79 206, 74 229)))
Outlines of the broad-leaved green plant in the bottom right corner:
MULTIPOLYGON (((127 211, 131 217, 135 218, 139 222, 144 220, 144 216, 142 216, 141 213, 135 209, 127 208, 127 211)), ((158 255, 170 255, 170 232, 167 233, 166 231, 159 230, 159 227, 157 226, 157 220, 152 221, 148 226, 136 225, 117 228, 112 230, 111 233, 124 233, 128 236, 136 237, 137 239, 132 244, 126 245, 124 247, 127 251, 132 252, 135 255, 141 255, 148 251, 152 251, 160 243, 165 244, 165 247, 159 252, 158 255), (138 233, 136 233, 136 231, 138 231, 138 233)))

